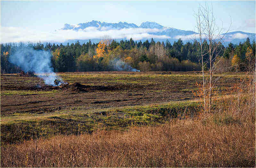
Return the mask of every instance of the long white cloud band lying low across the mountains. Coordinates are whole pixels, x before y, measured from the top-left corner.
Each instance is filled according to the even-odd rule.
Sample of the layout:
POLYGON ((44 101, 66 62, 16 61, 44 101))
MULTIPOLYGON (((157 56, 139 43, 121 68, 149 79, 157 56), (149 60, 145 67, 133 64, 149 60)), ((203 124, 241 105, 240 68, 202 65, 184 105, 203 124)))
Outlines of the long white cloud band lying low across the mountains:
POLYGON ((66 40, 89 40, 100 39, 104 35, 109 35, 113 39, 130 39, 141 40, 145 38, 170 38, 166 35, 153 35, 149 33, 161 32, 159 29, 144 29, 144 28, 124 28, 124 29, 103 29, 98 30, 96 27, 87 27, 84 30, 56 30, 53 32, 41 32, 38 30, 30 30, 19 27, 2 27, 1 43, 9 42, 38 42, 57 41, 63 42, 66 40))

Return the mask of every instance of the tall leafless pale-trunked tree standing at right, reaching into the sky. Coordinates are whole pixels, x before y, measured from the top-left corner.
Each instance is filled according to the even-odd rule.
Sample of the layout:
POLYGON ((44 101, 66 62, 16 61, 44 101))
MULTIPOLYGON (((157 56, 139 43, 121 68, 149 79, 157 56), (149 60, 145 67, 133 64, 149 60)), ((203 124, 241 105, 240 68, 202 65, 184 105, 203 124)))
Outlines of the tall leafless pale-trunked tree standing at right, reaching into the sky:
MULTIPOLYGON (((202 66, 202 76, 203 76, 203 98, 204 98, 204 110, 206 111, 206 91, 208 99, 208 110, 211 112, 211 104, 212 104, 212 89, 215 87, 217 79, 213 80, 213 74, 217 71, 217 65, 219 63, 215 62, 216 57, 221 58, 224 56, 225 47, 223 47, 222 43, 223 38, 226 33, 229 31, 231 27, 231 23, 226 33, 221 34, 223 31, 223 27, 221 28, 216 25, 215 17, 213 15, 213 9, 205 3, 205 7, 199 4, 198 12, 195 14, 196 16, 196 28, 198 31, 199 39, 200 39, 200 56, 201 61, 200 64, 202 66), (202 42, 203 41, 203 42, 202 42), (204 43, 209 42, 209 45, 204 45, 204 43), (204 47, 206 46, 206 47, 204 47), (207 60, 204 60, 204 56, 207 55, 207 60), (206 81, 204 76, 204 68, 208 64, 209 66, 209 84, 206 88, 206 81)), ((196 38, 196 35, 195 35, 196 38)))

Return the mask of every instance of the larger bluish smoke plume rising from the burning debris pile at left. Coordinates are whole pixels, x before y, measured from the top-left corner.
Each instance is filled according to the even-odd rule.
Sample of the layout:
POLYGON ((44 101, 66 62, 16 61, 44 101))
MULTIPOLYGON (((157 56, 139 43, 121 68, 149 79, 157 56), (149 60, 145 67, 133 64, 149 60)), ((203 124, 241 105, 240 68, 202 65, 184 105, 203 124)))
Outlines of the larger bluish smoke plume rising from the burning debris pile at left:
POLYGON ((49 51, 22 47, 9 57, 9 62, 19 66, 25 72, 37 73, 38 77, 44 79, 45 84, 55 85, 55 79, 61 80, 51 67, 51 53, 49 51), (42 72, 47 74, 42 74, 42 72))

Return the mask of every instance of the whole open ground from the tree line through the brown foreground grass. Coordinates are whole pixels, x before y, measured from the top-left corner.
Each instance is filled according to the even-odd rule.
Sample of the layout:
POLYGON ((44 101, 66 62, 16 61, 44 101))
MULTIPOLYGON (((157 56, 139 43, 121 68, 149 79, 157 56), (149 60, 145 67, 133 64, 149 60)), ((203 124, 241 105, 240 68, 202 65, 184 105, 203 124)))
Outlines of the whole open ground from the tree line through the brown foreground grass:
POLYGON ((244 73, 215 76, 211 113, 200 72, 58 75, 69 84, 1 75, 1 167, 255 166, 244 73))

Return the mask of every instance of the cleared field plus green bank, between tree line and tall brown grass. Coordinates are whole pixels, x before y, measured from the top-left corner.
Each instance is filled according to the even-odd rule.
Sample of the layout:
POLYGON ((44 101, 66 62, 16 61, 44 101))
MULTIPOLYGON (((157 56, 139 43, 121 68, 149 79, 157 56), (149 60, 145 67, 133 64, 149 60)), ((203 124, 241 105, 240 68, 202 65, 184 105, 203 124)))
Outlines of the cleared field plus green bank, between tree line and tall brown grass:
MULTIPOLYGON (((48 74, 36 74, 47 76, 48 74)), ((159 125, 186 112, 198 112, 200 72, 58 73, 65 87, 45 85, 42 78, 1 75, 1 142, 53 135, 78 135, 98 129, 128 130, 159 125)), ((224 76, 217 96, 232 96, 244 74, 224 76), (219 94, 219 95, 218 95, 219 94)))

